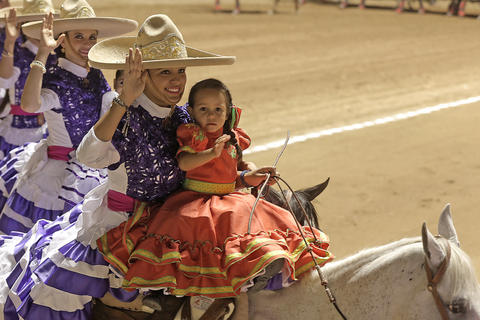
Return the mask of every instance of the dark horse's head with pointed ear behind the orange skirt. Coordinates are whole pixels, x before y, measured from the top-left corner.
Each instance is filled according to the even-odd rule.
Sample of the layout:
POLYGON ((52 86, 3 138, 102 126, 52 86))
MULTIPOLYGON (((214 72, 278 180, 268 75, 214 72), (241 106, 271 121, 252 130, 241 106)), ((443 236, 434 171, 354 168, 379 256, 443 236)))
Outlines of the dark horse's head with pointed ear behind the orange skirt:
POLYGON ((292 194, 290 190, 283 190, 283 195, 281 192, 270 188, 265 195, 265 200, 276 204, 279 207, 289 210, 289 206, 292 209, 295 217, 301 225, 306 225, 307 221, 303 213, 302 207, 305 209, 307 218, 311 221, 312 226, 319 227, 317 211, 315 206, 312 204, 312 201, 320 194, 328 185, 330 178, 324 182, 317 184, 310 188, 296 190, 295 195, 292 194), (288 205, 285 202, 285 199, 288 201, 288 205), (297 201, 298 199, 298 201, 297 201))

